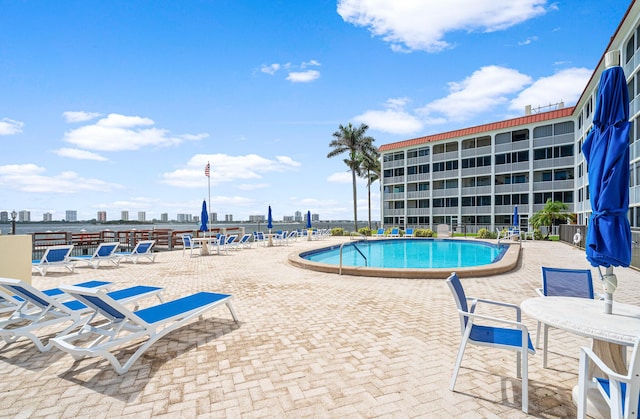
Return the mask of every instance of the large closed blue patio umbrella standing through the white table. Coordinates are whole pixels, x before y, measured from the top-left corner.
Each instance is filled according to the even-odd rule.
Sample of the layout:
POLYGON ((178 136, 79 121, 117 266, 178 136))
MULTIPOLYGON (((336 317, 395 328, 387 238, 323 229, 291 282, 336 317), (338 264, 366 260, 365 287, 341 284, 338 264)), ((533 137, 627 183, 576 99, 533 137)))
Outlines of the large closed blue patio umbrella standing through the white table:
POLYGON ((631 262, 629 210, 629 97, 622 67, 607 68, 600 76, 593 129, 582 151, 587 160, 591 217, 586 254, 600 274, 606 293, 605 312, 611 313, 617 279, 613 266, 631 262))

